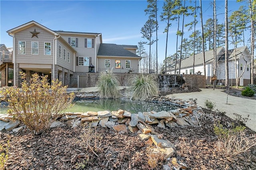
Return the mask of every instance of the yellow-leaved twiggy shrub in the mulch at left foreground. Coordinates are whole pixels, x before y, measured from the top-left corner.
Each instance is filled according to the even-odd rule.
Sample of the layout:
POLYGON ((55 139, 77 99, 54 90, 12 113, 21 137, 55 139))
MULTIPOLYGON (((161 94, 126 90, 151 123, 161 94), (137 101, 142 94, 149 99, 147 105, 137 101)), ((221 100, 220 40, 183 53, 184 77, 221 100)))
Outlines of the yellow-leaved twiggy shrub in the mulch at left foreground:
POLYGON ((61 112, 72 106, 74 93, 66 93, 67 86, 61 81, 48 83, 48 75, 33 74, 26 81, 26 74, 20 72, 21 89, 6 87, 2 91, 3 99, 9 103, 9 111, 34 134, 47 130, 61 112))

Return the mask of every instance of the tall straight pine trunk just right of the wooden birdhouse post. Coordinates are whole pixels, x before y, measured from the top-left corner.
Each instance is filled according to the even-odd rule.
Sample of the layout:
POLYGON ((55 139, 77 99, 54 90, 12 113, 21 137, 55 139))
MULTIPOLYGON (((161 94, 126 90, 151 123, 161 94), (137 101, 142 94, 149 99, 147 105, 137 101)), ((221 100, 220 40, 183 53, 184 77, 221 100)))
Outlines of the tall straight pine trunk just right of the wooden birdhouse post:
POLYGON ((225 86, 229 87, 228 75, 228 0, 225 0, 225 86))

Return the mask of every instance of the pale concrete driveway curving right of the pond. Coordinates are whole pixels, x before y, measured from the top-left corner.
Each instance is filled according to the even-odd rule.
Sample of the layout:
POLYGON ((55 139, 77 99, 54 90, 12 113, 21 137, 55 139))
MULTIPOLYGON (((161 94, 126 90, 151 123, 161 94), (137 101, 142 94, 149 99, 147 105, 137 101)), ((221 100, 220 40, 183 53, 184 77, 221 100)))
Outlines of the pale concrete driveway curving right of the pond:
POLYGON ((204 106, 204 101, 206 99, 216 103, 214 110, 218 109, 221 112, 226 112, 226 115, 230 118, 234 118, 233 113, 242 115, 242 117, 247 117, 250 115, 250 121, 247 121, 246 126, 251 130, 256 132, 256 100, 246 99, 242 97, 235 97, 228 95, 227 104, 227 94, 222 92, 223 89, 201 89, 200 92, 192 93, 176 93, 172 95, 167 95, 167 97, 174 97, 183 100, 189 100, 189 98, 197 98, 197 105, 200 107, 204 106))

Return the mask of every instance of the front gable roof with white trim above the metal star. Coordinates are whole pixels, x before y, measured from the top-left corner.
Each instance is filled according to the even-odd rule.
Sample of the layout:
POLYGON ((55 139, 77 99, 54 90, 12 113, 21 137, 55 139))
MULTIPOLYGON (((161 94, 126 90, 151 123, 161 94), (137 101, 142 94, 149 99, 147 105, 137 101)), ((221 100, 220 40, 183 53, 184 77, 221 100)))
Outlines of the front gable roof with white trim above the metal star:
POLYGON ((22 24, 21 26, 12 28, 11 30, 8 30, 8 31, 6 31, 6 32, 7 32, 8 34, 13 35, 13 34, 16 33, 16 32, 19 32, 19 31, 21 31, 21 30, 24 30, 24 29, 29 28, 29 27, 34 26, 34 25, 36 25, 36 26, 38 26, 39 28, 42 28, 42 29, 44 29, 44 30, 46 30, 46 31, 48 31, 48 32, 50 32, 50 33, 52 33, 52 34, 55 35, 55 36, 58 36, 58 33, 56 33, 56 32, 54 32, 54 31, 50 30, 49 28, 47 28, 47 27, 45 27, 45 26, 43 26, 43 25, 41 25, 41 24, 39 24, 39 23, 37 23, 37 22, 35 22, 35 21, 27 22, 26 24, 22 24))

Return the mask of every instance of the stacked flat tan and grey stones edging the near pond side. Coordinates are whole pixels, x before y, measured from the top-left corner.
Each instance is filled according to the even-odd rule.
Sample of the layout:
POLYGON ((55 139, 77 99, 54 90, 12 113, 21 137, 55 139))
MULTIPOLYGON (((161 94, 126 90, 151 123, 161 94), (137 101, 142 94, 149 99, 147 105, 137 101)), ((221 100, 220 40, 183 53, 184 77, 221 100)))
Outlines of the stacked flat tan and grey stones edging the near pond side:
MULTIPOLYGON (((92 96, 92 95, 91 95, 92 96)), ((198 125, 198 117, 203 113, 200 107, 197 107, 194 102, 184 101, 181 99, 171 100, 165 97, 154 96, 150 99, 153 102, 165 102, 172 105, 180 106, 179 109, 171 111, 160 112, 138 112, 138 114, 131 114, 128 111, 86 111, 76 113, 63 113, 56 122, 53 122, 50 128, 69 126, 75 128, 76 126, 91 127, 101 126, 110 128, 118 133, 136 133, 141 140, 148 140, 148 143, 154 144, 154 152, 163 152, 166 158, 173 156, 175 152, 174 144, 168 139, 164 138, 162 134, 158 134, 154 129, 155 126, 159 128, 172 128, 179 126, 195 126, 198 125)), ((25 126, 18 120, 12 121, 12 115, 2 115, 0 117, 0 131, 18 132, 25 128, 25 126)), ((170 158, 169 165, 164 165, 168 169, 172 167, 185 167, 185 164, 175 161, 176 158, 170 158)))

